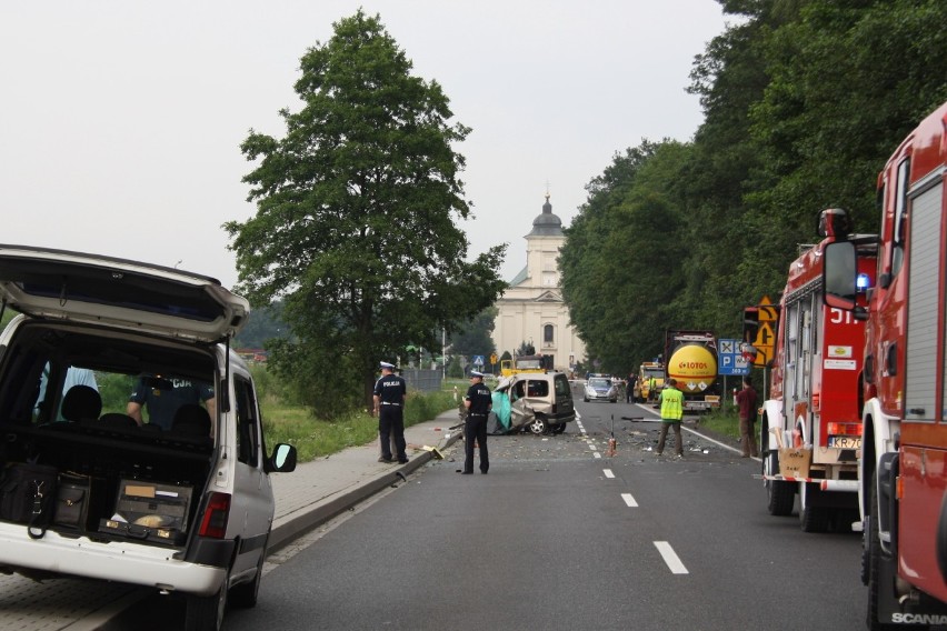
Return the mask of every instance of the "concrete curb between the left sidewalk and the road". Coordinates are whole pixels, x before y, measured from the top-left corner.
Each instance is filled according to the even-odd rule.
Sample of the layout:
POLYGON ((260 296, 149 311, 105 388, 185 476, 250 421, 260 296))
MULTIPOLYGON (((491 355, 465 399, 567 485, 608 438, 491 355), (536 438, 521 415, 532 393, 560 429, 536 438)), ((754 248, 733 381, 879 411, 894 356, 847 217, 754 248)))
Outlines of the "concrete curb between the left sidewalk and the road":
MULTIPOLYGON (((460 440, 462 431, 452 432, 447 439, 442 448, 447 449, 455 442, 460 440)), ((409 474, 417 471, 428 462, 433 460, 433 453, 423 451, 407 463, 400 467, 386 471, 381 475, 369 480, 365 484, 352 489, 337 498, 333 498, 325 503, 315 505, 311 510, 300 511, 297 517, 286 520, 279 525, 275 525, 270 532, 270 539, 267 543, 268 553, 279 550, 280 548, 291 543, 293 540, 306 534, 310 530, 318 528, 330 519, 346 512, 358 503, 367 500, 379 491, 397 484, 399 480, 406 479, 409 474)), ((291 475, 292 473, 290 473, 291 475)))

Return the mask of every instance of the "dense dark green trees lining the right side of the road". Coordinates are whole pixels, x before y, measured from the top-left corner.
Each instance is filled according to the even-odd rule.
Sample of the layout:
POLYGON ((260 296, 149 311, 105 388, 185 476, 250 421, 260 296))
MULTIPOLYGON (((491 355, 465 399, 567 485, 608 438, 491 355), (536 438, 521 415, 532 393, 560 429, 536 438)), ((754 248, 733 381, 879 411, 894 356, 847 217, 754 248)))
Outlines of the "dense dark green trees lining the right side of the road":
POLYGON ((682 144, 642 141, 588 187, 559 266, 588 358, 627 373, 668 328, 739 337, 778 300, 825 208, 877 230, 878 171, 947 100, 947 3, 721 0, 739 16, 697 57, 705 121, 682 144))

